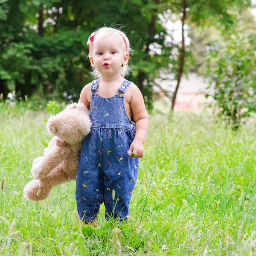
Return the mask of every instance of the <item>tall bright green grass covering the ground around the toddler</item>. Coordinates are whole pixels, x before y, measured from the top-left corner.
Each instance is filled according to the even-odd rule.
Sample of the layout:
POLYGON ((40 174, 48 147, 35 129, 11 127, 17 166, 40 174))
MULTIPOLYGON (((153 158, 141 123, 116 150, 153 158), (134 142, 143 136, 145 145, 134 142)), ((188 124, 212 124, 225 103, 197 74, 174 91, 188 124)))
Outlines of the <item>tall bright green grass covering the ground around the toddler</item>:
POLYGON ((45 118, 43 111, 0 106, 0 216, 9 221, 0 219, 0 255, 254 255, 255 125, 235 133, 206 114, 152 114, 131 201, 134 220, 116 233, 102 208, 99 229, 80 233, 74 181, 43 202, 22 195, 32 160, 49 141, 45 118), (169 185, 149 193, 139 223, 160 137, 149 190, 169 185))

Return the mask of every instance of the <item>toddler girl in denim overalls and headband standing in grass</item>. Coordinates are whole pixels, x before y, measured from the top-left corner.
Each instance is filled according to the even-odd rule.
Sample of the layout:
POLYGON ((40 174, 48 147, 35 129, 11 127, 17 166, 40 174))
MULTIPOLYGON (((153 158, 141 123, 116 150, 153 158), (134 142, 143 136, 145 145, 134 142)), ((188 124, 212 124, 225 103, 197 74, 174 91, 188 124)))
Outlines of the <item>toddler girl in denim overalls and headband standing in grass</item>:
POLYGON ((81 148, 77 210, 85 224, 92 223, 104 203, 106 220, 126 220, 144 154, 148 114, 138 87, 124 79, 131 51, 126 35, 103 27, 91 34, 87 44, 90 74, 96 80, 83 88, 79 99, 90 109, 92 128, 81 148), (137 157, 129 157, 128 150, 137 157))

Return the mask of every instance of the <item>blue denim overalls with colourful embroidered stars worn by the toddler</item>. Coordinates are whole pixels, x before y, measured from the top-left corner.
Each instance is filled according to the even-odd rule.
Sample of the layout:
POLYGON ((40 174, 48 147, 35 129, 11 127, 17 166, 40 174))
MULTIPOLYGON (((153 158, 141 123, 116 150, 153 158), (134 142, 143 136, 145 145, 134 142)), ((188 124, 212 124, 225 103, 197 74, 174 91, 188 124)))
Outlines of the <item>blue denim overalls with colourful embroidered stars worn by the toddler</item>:
POLYGON ((127 154, 135 137, 135 123, 125 111, 125 91, 130 84, 125 79, 113 97, 103 98, 98 93, 99 79, 92 82, 92 128, 84 139, 76 176, 82 221, 93 221, 102 203, 106 220, 127 219, 139 168, 139 158, 127 154))

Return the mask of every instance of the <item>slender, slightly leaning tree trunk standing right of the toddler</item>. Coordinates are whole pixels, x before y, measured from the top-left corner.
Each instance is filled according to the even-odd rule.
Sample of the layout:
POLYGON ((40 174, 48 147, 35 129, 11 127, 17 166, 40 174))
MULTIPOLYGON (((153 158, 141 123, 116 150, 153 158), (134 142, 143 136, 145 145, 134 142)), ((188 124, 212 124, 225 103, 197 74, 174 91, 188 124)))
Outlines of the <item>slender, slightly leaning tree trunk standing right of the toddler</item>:
POLYGON ((180 63, 179 63, 179 71, 178 71, 178 76, 177 76, 177 85, 175 88, 175 92, 173 93, 172 96, 172 107, 171 111, 174 109, 175 105, 175 99, 177 96, 177 92, 180 86, 180 79, 183 73, 183 67, 184 67, 184 59, 185 59, 185 38, 184 38, 184 25, 185 25, 185 20, 186 20, 186 0, 183 0, 183 16, 182 16, 182 44, 181 44, 181 49, 180 49, 180 63))

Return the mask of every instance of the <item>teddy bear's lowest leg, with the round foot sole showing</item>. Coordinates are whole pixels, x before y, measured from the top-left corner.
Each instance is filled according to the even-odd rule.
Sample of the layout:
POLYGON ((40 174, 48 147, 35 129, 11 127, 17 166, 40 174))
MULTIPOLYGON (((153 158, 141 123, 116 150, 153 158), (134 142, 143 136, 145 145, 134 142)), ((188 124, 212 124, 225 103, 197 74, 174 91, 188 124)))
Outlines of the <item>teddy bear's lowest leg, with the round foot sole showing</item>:
POLYGON ((61 183, 67 182, 68 177, 61 168, 55 168, 49 175, 42 180, 30 181, 23 190, 23 195, 26 199, 31 201, 45 200, 52 188, 61 183))

